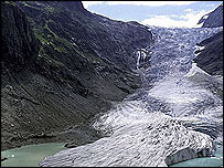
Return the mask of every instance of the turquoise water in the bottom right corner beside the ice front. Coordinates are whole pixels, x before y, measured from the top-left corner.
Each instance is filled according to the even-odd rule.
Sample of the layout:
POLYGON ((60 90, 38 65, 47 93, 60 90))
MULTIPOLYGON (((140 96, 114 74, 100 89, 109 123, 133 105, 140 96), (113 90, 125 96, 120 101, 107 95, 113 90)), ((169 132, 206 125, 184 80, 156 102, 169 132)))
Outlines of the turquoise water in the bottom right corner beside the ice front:
POLYGON ((217 146, 215 157, 195 158, 170 167, 223 167, 223 146, 217 146))

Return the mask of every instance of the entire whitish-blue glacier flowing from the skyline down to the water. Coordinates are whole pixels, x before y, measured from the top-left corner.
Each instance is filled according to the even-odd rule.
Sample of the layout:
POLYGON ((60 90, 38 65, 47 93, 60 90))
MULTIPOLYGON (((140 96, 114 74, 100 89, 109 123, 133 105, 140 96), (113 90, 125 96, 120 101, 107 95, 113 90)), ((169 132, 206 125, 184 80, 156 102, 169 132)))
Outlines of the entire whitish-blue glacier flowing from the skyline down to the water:
POLYGON ((192 69, 192 59, 196 43, 221 30, 151 28, 154 44, 142 50, 150 65, 137 64, 142 87, 94 124, 107 136, 40 165, 151 167, 214 156, 223 143, 223 101, 207 85, 218 80, 192 69))

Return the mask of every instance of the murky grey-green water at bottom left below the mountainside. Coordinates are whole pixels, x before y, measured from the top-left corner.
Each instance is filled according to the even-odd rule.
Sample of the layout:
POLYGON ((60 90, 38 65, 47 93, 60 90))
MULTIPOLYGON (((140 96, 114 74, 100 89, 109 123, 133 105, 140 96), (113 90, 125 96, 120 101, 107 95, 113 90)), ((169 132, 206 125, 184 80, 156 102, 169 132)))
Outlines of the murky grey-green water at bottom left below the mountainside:
POLYGON ((8 159, 1 161, 1 167, 39 167, 39 161, 63 149, 67 149, 64 143, 47 143, 4 150, 1 157, 8 159))

